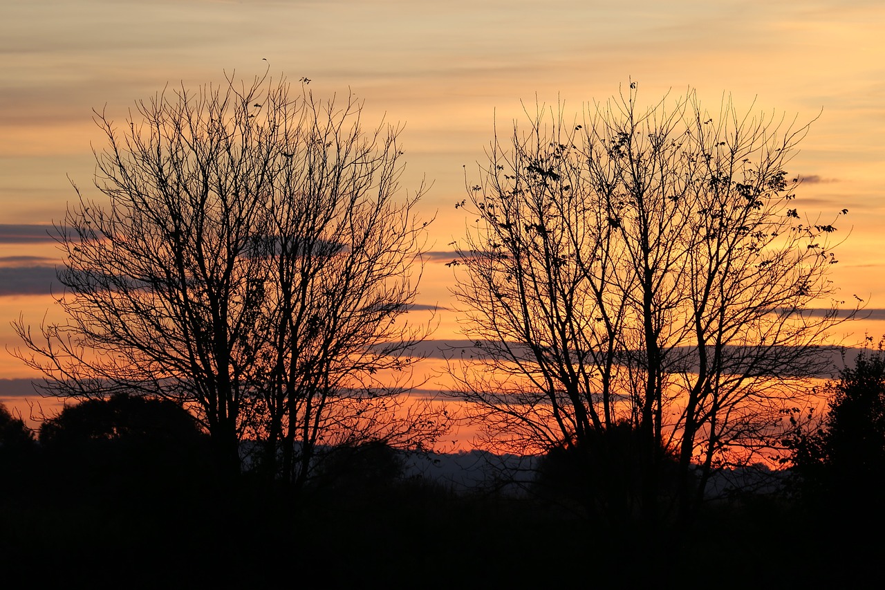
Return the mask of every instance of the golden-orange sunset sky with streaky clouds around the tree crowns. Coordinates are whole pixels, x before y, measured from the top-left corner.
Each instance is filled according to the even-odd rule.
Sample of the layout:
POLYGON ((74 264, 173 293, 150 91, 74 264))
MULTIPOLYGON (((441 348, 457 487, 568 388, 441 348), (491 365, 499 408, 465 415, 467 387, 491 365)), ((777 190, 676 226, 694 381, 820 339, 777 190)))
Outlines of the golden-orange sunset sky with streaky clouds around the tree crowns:
MULTIPOLYGON (((269 65, 318 97, 364 99, 367 124, 404 123, 404 187, 433 186, 420 205, 431 250, 464 233, 454 204, 483 159, 493 123, 535 102, 579 113, 630 81, 641 102, 693 87, 715 109, 815 120, 789 172, 797 205, 825 219, 847 208, 834 280, 865 299, 871 319, 849 342, 885 333, 885 4, 673 0, 0 0, 0 343, 9 322, 52 311, 58 252, 43 229, 75 195, 95 197, 92 109, 122 121, 165 85, 250 79, 269 65), (264 60, 266 59, 266 61, 264 60), (755 101, 755 103, 754 103, 755 101), (754 106, 755 105, 755 106, 754 106), (466 168, 464 167, 466 165, 466 168), (68 180, 70 178, 70 181, 68 180)), ((420 303, 450 307, 452 270, 428 262, 420 303)), ((435 338, 458 338, 440 314, 435 338)), ((22 409, 35 377, 0 350, 0 400, 22 409)), ((425 385, 433 388, 431 380, 425 385)), ((26 416, 27 417, 27 416, 26 416)))

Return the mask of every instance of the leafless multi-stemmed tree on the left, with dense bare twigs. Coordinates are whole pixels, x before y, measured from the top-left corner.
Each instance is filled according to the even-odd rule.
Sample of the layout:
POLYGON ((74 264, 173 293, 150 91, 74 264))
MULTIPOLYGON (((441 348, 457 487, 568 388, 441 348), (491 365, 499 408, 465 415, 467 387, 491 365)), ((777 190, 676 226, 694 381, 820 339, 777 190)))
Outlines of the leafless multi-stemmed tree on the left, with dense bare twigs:
POLYGON ((352 97, 339 108, 305 85, 167 89, 122 129, 96 113, 107 200, 78 190, 57 226, 68 320, 14 324, 46 392, 184 402, 227 473, 247 435, 274 453, 286 439, 289 463, 294 440, 433 437, 432 416, 392 408, 407 379, 372 377, 405 373, 427 335, 404 318, 423 187, 397 198, 399 128, 366 133, 352 97))

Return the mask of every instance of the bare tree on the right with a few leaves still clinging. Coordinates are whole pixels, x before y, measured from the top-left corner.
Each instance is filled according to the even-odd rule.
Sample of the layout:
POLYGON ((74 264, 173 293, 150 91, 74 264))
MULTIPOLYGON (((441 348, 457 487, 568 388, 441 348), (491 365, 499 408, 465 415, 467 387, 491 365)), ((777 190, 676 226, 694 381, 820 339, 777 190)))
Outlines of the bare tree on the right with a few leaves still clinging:
POLYGON ((476 222, 455 294, 481 353, 455 373, 512 450, 623 461, 606 446, 625 438, 598 433, 629 424, 640 477, 624 510, 654 522, 673 451, 686 517, 713 472, 764 460, 828 369, 827 330, 854 312, 837 314, 827 278, 835 227, 798 212, 785 170, 807 125, 730 101, 711 114, 693 91, 635 101, 631 84, 580 123, 540 108, 491 144, 458 204, 476 222))

